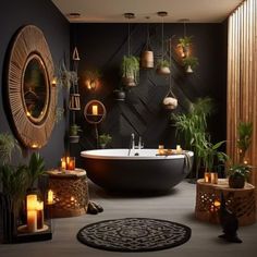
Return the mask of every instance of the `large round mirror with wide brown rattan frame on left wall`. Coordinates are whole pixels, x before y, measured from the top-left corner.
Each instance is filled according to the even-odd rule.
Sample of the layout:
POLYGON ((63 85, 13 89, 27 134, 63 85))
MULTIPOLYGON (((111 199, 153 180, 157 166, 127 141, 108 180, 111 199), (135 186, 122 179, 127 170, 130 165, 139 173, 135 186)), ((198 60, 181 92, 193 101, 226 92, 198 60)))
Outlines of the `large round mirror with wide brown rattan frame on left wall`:
POLYGON ((56 119, 53 62, 42 32, 23 27, 11 48, 8 68, 8 95, 14 128, 28 148, 48 142, 56 119))

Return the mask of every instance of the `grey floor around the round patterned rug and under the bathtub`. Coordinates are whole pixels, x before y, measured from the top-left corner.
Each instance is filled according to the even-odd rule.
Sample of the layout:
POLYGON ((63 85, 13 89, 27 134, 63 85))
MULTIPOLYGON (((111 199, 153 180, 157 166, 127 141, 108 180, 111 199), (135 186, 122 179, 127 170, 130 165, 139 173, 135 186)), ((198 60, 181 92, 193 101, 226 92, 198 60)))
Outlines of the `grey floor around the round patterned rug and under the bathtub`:
POLYGON ((152 197, 132 197, 109 195, 89 183, 90 198, 100 204, 105 211, 97 216, 85 215, 76 218, 52 220, 52 241, 19 245, 0 245, 0 257, 253 257, 257 253, 257 223, 241 227, 238 235, 242 244, 232 244, 218 238, 221 228, 197 221, 194 218, 195 185, 187 182, 179 184, 169 195, 152 197), (145 253, 117 253, 96 249, 76 240, 77 231, 93 222, 126 217, 167 219, 191 227, 191 240, 178 247, 145 253))

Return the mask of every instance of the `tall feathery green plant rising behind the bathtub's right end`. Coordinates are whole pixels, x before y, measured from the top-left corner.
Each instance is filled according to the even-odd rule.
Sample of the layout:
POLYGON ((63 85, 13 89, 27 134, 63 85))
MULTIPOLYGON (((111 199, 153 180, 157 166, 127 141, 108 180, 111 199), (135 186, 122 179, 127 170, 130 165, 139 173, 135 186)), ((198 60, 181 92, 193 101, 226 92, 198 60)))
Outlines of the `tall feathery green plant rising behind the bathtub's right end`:
POLYGON ((203 160, 203 149, 208 142, 207 119, 215 111, 211 98, 198 98, 192 103, 187 113, 172 113, 171 120, 175 122, 175 136, 183 140, 185 149, 194 151, 196 163, 196 178, 203 160))

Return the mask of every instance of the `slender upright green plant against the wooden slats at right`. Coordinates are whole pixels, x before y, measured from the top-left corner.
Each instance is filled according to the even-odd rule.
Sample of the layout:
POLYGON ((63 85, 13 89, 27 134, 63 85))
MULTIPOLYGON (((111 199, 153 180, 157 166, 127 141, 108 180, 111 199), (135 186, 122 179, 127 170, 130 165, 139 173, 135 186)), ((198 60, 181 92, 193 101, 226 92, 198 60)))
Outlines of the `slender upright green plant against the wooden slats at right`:
POLYGON ((253 122, 240 122, 237 126, 238 139, 237 147, 240 148, 240 162, 243 162, 245 154, 252 143, 253 122))

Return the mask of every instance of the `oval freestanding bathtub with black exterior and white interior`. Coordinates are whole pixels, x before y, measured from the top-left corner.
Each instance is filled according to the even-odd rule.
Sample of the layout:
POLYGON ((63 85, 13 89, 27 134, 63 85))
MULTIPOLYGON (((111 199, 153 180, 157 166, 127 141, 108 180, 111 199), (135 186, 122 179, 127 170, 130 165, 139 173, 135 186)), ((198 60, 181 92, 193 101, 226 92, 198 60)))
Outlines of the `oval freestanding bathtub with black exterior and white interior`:
POLYGON ((87 176, 108 191, 163 192, 191 171, 194 154, 157 156, 157 149, 97 149, 82 151, 87 176))

